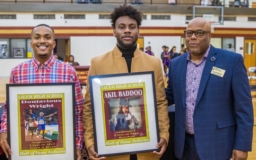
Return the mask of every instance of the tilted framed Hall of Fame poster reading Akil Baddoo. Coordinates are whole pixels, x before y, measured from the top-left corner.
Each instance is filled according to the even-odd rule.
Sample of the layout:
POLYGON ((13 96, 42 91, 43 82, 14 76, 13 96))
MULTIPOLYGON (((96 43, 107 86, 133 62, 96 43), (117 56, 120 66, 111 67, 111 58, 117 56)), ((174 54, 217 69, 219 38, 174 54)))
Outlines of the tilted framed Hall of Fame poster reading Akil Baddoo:
POLYGON ((160 150, 153 71, 89 76, 89 83, 99 157, 160 150))

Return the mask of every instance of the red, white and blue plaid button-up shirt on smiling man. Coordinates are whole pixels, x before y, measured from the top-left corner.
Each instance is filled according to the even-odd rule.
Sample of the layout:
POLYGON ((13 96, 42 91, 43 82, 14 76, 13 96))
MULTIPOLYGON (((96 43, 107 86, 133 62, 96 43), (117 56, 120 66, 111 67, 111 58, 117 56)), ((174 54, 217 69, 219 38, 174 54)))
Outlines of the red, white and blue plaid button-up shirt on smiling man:
MULTIPOLYGON (((34 57, 27 60, 11 71, 10 84, 14 83, 62 83, 75 82, 75 121, 76 121, 76 148, 83 149, 82 111, 84 104, 83 93, 75 69, 52 55, 49 60, 40 63, 34 57)), ((7 132, 6 102, 1 118, 0 133, 7 132)))

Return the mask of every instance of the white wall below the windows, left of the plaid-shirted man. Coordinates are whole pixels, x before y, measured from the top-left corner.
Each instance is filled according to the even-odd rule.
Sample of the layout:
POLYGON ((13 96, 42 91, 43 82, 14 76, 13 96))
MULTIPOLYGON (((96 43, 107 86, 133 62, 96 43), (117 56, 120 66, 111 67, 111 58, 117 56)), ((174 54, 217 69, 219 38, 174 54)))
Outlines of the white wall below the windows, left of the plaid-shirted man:
POLYGON ((0 59, 1 77, 10 77, 12 69, 18 64, 30 59, 0 59))

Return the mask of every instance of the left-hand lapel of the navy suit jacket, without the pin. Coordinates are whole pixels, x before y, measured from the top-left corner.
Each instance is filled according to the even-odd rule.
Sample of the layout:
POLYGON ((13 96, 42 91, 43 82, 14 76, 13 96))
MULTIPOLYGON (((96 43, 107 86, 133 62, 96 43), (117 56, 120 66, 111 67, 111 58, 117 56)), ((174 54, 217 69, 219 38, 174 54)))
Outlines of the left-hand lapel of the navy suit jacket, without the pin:
POLYGON ((186 71, 187 71, 187 53, 184 55, 184 57, 181 60, 181 66, 180 66, 180 79, 181 79, 181 99, 183 108, 185 108, 185 101, 186 101, 186 71))

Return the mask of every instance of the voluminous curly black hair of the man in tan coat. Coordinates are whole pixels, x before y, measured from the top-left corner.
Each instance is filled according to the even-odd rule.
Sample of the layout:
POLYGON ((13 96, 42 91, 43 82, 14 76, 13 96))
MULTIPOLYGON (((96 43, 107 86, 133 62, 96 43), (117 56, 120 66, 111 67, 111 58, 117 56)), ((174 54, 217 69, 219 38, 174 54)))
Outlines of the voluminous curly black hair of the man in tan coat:
POLYGON ((130 18, 135 19, 137 21, 139 28, 142 22, 142 15, 143 13, 141 13, 136 8, 130 5, 120 5, 119 7, 116 7, 114 11, 110 14, 111 26, 115 29, 115 23, 119 17, 129 16, 130 18))

